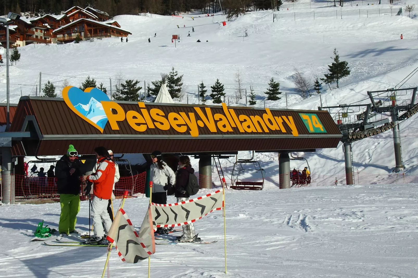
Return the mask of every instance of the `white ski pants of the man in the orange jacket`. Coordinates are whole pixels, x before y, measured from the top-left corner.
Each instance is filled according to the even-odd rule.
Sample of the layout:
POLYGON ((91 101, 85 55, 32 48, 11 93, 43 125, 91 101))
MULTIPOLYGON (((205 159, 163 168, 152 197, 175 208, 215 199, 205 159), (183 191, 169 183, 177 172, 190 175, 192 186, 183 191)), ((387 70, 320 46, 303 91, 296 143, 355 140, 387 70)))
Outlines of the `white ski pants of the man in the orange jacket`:
POLYGON ((109 212, 107 212, 107 205, 109 200, 100 199, 96 196, 93 197, 92 202, 92 218, 93 218, 93 229, 94 235, 97 237, 104 236, 104 229, 106 233, 109 232, 110 226, 112 226, 112 220, 110 220, 109 212), (103 223, 103 225, 102 225, 103 223))

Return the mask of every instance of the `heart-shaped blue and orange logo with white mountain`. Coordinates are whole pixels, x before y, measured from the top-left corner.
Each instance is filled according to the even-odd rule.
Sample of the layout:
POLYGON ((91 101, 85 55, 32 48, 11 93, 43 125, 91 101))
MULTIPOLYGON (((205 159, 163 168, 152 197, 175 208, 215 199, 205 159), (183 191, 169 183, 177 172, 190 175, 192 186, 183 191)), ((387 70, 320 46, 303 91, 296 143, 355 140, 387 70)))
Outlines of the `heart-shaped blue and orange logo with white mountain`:
POLYGON ((83 92, 77 87, 66 86, 62 90, 62 98, 75 114, 103 133, 107 116, 102 101, 110 101, 107 94, 98 88, 87 88, 83 92))

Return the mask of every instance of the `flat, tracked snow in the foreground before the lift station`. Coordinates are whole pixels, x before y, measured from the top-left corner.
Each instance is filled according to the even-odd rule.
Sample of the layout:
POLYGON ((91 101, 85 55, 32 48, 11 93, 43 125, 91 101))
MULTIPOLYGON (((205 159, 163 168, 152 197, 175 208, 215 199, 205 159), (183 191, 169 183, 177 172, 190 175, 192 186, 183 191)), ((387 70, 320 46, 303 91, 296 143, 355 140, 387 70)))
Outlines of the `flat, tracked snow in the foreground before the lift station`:
MULTIPOLYGON (((416 185, 227 190, 225 198, 228 273, 223 273, 219 211, 195 223, 202 239, 219 242, 156 245, 151 277, 417 277, 416 185)), ((137 228, 147 205, 142 197, 125 203, 137 228)), ((39 221, 58 226, 58 203, 1 206, 0 212, 0 277, 101 277, 106 248, 29 242, 39 221)), ((88 202, 81 203, 78 216, 77 230, 87 233, 88 202)), ((110 255, 110 277, 147 277, 147 272, 147 261, 133 265, 115 250, 110 255)))

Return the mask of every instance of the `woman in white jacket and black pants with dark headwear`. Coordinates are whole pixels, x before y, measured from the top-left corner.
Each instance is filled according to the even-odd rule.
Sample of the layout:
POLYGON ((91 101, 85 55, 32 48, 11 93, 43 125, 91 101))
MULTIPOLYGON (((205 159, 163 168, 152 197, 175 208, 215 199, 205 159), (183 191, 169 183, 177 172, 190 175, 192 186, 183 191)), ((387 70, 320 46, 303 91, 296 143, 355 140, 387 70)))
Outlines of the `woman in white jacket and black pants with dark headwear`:
MULTIPOLYGON (((153 192, 151 202, 155 204, 167 204, 167 190, 170 184, 176 182, 176 175, 162 160, 163 154, 160 151, 154 151, 151 154, 150 180, 153 181, 153 192)), ((167 228, 157 228, 155 233, 168 233, 167 228)))

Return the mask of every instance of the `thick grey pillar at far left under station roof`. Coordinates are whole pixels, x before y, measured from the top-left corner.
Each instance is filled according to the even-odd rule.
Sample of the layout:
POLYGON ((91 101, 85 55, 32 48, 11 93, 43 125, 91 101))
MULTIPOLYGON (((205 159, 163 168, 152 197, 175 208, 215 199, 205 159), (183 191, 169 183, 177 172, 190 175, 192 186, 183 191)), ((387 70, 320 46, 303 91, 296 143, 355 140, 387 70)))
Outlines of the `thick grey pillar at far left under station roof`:
POLYGON ((2 202, 4 204, 15 204, 15 183, 12 163, 12 148, 2 147, 2 202))

